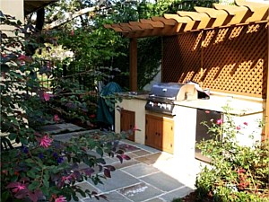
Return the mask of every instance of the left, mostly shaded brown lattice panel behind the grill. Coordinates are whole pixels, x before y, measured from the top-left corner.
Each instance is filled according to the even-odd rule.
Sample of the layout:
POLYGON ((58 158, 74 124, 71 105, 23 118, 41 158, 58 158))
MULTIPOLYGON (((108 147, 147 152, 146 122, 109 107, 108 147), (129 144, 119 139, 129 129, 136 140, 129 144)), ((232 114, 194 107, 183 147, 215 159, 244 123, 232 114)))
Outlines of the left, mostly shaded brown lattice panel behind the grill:
POLYGON ((162 81, 184 83, 199 71, 200 43, 198 32, 165 38, 163 41, 162 81))

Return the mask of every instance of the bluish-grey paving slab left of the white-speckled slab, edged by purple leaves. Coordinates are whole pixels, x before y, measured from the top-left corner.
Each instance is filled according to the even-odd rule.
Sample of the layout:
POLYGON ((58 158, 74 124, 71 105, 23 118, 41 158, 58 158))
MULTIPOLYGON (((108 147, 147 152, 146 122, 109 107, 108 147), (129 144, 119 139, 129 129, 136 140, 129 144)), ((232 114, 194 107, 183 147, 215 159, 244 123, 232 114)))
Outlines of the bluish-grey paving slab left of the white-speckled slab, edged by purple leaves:
MULTIPOLYGON (((111 172, 111 178, 103 180, 104 184, 94 185, 97 189, 100 189, 102 192, 108 192, 116 189, 122 189, 140 182, 133 176, 126 174, 124 171, 116 170, 111 172)), ((89 183, 92 183, 89 180, 89 183)))

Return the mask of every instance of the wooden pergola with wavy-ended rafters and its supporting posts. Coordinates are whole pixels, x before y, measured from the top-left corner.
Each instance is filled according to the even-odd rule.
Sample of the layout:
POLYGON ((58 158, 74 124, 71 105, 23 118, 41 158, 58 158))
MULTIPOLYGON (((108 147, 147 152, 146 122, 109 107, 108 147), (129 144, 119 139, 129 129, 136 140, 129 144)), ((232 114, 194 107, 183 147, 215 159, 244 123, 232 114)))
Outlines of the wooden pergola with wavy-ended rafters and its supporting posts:
MULTIPOLYGON (((130 39, 130 90, 137 91, 137 39, 153 36, 185 36, 190 32, 213 31, 239 26, 263 25, 268 30, 269 4, 236 0, 235 5, 213 4, 213 8, 195 7, 195 12, 178 11, 161 17, 140 19, 138 22, 105 24, 108 29, 130 39), (182 35, 183 34, 183 35, 182 35)), ((266 38, 265 38, 266 39, 266 38)), ((266 42, 267 43, 267 42, 266 42)), ((266 61, 269 61, 269 45, 266 61)), ((203 46, 203 44, 202 44, 203 46)), ((265 63, 265 134, 269 134, 269 62, 265 63)), ((203 66, 201 66, 203 68, 203 66)))

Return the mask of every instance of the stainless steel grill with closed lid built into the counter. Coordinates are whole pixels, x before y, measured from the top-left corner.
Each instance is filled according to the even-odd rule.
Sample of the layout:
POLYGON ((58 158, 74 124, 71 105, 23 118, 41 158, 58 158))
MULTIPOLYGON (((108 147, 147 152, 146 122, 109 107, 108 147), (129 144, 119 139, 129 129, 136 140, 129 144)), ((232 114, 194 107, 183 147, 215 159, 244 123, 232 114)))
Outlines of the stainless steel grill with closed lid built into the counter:
POLYGON ((195 100, 198 92, 195 84, 183 83, 156 83, 145 105, 145 110, 173 115, 175 101, 195 100))

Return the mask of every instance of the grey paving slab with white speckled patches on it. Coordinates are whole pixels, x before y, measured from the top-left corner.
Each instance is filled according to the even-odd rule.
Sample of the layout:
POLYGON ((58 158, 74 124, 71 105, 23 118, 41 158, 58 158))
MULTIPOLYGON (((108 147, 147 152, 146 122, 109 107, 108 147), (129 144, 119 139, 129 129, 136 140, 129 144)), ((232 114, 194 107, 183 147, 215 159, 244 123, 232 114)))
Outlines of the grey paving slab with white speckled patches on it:
POLYGON ((125 189, 119 189, 118 192, 134 202, 154 198, 155 196, 163 193, 160 189, 156 189, 152 187, 152 185, 145 184, 143 182, 125 189))

